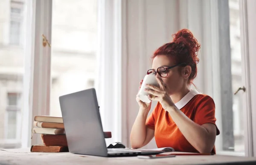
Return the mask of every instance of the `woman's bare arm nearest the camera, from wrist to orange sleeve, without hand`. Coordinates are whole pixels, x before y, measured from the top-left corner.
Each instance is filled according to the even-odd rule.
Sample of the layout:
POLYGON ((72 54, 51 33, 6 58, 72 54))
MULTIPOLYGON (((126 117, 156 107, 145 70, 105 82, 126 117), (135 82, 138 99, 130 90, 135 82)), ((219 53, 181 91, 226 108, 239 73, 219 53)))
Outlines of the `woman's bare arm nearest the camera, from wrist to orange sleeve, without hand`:
POLYGON ((216 126, 212 123, 199 125, 190 120, 176 106, 166 109, 186 140, 200 153, 210 153, 215 143, 216 126))

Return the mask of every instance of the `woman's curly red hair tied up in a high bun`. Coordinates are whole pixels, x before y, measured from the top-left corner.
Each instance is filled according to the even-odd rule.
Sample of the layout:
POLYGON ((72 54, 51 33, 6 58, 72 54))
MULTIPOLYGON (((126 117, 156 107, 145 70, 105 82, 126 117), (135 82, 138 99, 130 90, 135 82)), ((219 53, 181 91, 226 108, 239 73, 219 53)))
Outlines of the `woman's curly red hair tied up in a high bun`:
POLYGON ((158 55, 166 55, 174 58, 177 64, 186 63, 192 69, 189 76, 189 84, 191 84, 197 75, 197 64, 199 62, 197 56, 200 44, 188 29, 182 29, 173 34, 172 37, 172 42, 158 48, 152 58, 154 59, 158 55))

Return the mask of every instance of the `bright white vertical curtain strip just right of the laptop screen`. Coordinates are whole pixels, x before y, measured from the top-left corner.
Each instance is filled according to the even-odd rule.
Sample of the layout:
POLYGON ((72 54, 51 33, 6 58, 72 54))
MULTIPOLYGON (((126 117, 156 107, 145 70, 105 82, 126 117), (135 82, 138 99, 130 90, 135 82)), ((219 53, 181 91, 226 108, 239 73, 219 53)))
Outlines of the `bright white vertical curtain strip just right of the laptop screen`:
POLYGON ((121 1, 99 0, 98 78, 95 88, 104 131, 111 131, 107 145, 122 141, 121 1))

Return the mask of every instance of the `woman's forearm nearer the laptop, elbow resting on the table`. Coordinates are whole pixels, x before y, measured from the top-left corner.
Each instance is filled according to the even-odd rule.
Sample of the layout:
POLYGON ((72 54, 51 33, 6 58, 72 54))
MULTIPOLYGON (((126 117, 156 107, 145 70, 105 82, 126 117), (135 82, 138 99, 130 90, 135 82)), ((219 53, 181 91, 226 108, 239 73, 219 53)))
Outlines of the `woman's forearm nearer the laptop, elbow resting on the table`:
POLYGON ((131 148, 141 148, 154 137, 154 130, 146 127, 148 111, 140 109, 131 129, 131 148))

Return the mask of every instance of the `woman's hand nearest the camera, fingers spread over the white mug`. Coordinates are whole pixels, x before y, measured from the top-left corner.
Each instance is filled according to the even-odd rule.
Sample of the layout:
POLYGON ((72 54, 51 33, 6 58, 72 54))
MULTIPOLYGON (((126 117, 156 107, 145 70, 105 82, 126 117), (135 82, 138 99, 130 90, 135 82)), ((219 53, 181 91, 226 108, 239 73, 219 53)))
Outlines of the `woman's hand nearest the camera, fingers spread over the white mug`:
POLYGON ((146 87, 150 89, 145 89, 145 91, 155 96, 155 97, 152 97, 151 95, 148 95, 148 98, 150 100, 159 101, 163 109, 167 110, 169 107, 174 106, 175 104, 172 102, 172 99, 169 96, 169 93, 163 84, 163 80, 158 77, 156 78, 160 87, 156 87, 151 84, 146 84, 146 87))

